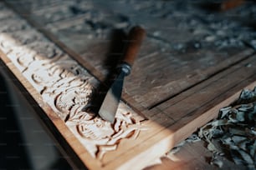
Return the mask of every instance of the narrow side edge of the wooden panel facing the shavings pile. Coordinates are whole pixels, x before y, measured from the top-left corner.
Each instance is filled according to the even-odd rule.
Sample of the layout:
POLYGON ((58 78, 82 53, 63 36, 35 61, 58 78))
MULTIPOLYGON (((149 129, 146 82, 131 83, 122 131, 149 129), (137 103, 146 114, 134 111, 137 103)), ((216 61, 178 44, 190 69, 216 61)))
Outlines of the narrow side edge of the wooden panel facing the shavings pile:
MULTIPOLYGON (((253 79, 249 79, 243 83, 243 87, 245 84, 249 85, 246 88, 252 89, 253 87, 256 86, 255 82, 255 76, 253 79), (248 81, 248 82, 247 82, 248 81), (254 82, 253 82, 254 81, 254 82)), ((241 86, 242 86, 241 85, 241 86)), ((212 118, 218 116, 218 110, 222 107, 228 106, 231 102, 233 102, 236 98, 238 98, 240 91, 238 89, 233 89, 233 92, 230 92, 228 95, 228 98, 223 100, 223 102, 220 102, 218 105, 215 107, 212 107, 211 109, 207 110, 206 112, 200 112, 197 114, 193 114, 190 117, 184 117, 182 121, 179 123, 174 123, 171 127, 166 128, 165 130, 161 131, 161 133, 157 133, 154 137, 147 139, 146 143, 141 143, 139 147, 136 148, 136 152, 143 153, 146 152, 147 154, 149 150, 147 148, 153 147, 150 145, 150 143, 157 143, 155 147, 158 145, 158 148, 152 148, 155 152, 154 154, 158 155, 160 157, 160 151, 162 148, 172 148, 174 147, 177 143, 179 143, 181 140, 184 140, 187 138, 187 134, 191 134, 194 132, 197 128, 200 127, 206 122, 209 122, 212 120, 212 118), (232 95, 233 94, 233 95, 232 95), (230 96, 232 95, 232 96, 230 96), (160 147, 161 146, 161 147, 160 147)), ((124 153, 121 155, 121 158, 129 157, 130 154, 133 154, 133 150, 124 153)), ((108 166, 114 166, 113 163, 110 163, 108 166)))

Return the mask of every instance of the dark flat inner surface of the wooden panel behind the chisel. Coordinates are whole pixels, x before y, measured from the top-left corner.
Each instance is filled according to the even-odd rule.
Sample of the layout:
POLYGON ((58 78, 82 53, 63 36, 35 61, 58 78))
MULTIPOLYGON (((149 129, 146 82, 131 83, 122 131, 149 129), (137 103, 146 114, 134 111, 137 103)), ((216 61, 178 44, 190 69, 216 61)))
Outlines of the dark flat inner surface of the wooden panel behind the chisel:
MULTIPOLYGON (((184 14, 175 9, 177 5, 176 2, 125 1, 49 1, 49 6, 37 1, 13 3, 39 29, 79 54, 75 58, 83 60, 82 64, 89 63, 92 69, 88 69, 97 75, 107 74, 115 66, 110 62, 121 56, 122 50, 112 49, 111 45, 117 46, 120 42, 113 42, 115 36, 122 35, 113 30, 127 29, 134 23, 143 25, 148 37, 131 76, 127 77, 125 93, 145 108, 155 107, 246 56, 234 56, 248 49, 236 37, 238 32, 229 31, 238 28, 233 26, 241 19, 233 17, 237 13, 214 13, 211 23, 208 13, 201 10, 200 15, 195 9, 199 2, 184 6, 187 7, 184 14)), ((128 98, 125 101, 133 104, 128 98)))

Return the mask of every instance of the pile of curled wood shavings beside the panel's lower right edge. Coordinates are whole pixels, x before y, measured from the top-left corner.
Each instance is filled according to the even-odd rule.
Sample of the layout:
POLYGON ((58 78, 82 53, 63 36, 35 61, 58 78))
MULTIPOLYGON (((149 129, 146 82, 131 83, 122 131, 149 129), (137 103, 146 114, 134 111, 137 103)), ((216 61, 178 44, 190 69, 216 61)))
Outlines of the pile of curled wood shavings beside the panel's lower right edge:
POLYGON ((256 168, 256 87, 244 89, 238 99, 219 111, 217 119, 199 128, 177 144, 168 154, 177 153, 184 144, 204 141, 213 153, 209 162, 223 168, 222 156, 248 169, 256 168), (221 156, 221 157, 220 157, 221 156))

